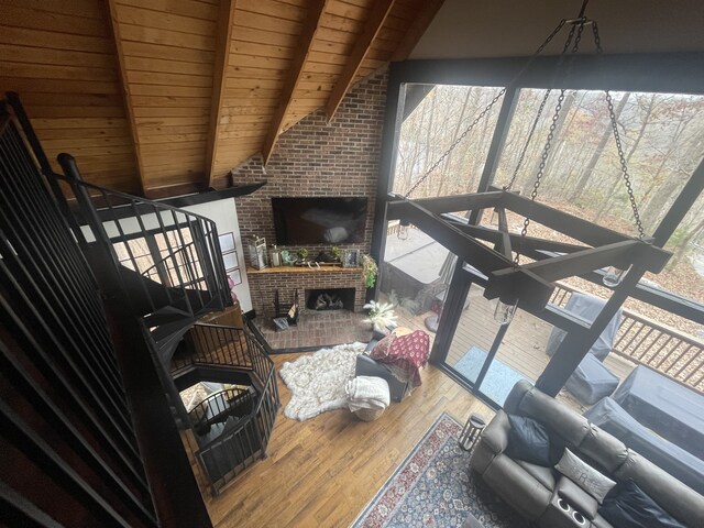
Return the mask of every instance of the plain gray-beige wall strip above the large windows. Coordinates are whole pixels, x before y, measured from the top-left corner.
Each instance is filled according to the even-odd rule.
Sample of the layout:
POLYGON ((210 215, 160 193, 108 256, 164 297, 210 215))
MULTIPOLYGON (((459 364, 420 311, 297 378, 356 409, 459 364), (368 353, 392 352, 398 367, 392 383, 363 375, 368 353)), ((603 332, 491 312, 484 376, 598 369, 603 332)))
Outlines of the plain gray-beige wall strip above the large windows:
MULTIPOLYGON (((531 55, 561 19, 579 14, 582 0, 446 0, 410 58, 531 55)), ((704 51, 702 0, 591 0, 604 53, 704 51)), ((566 32, 546 54, 558 54, 566 32)), ((584 50, 593 48, 591 32, 584 50)))

